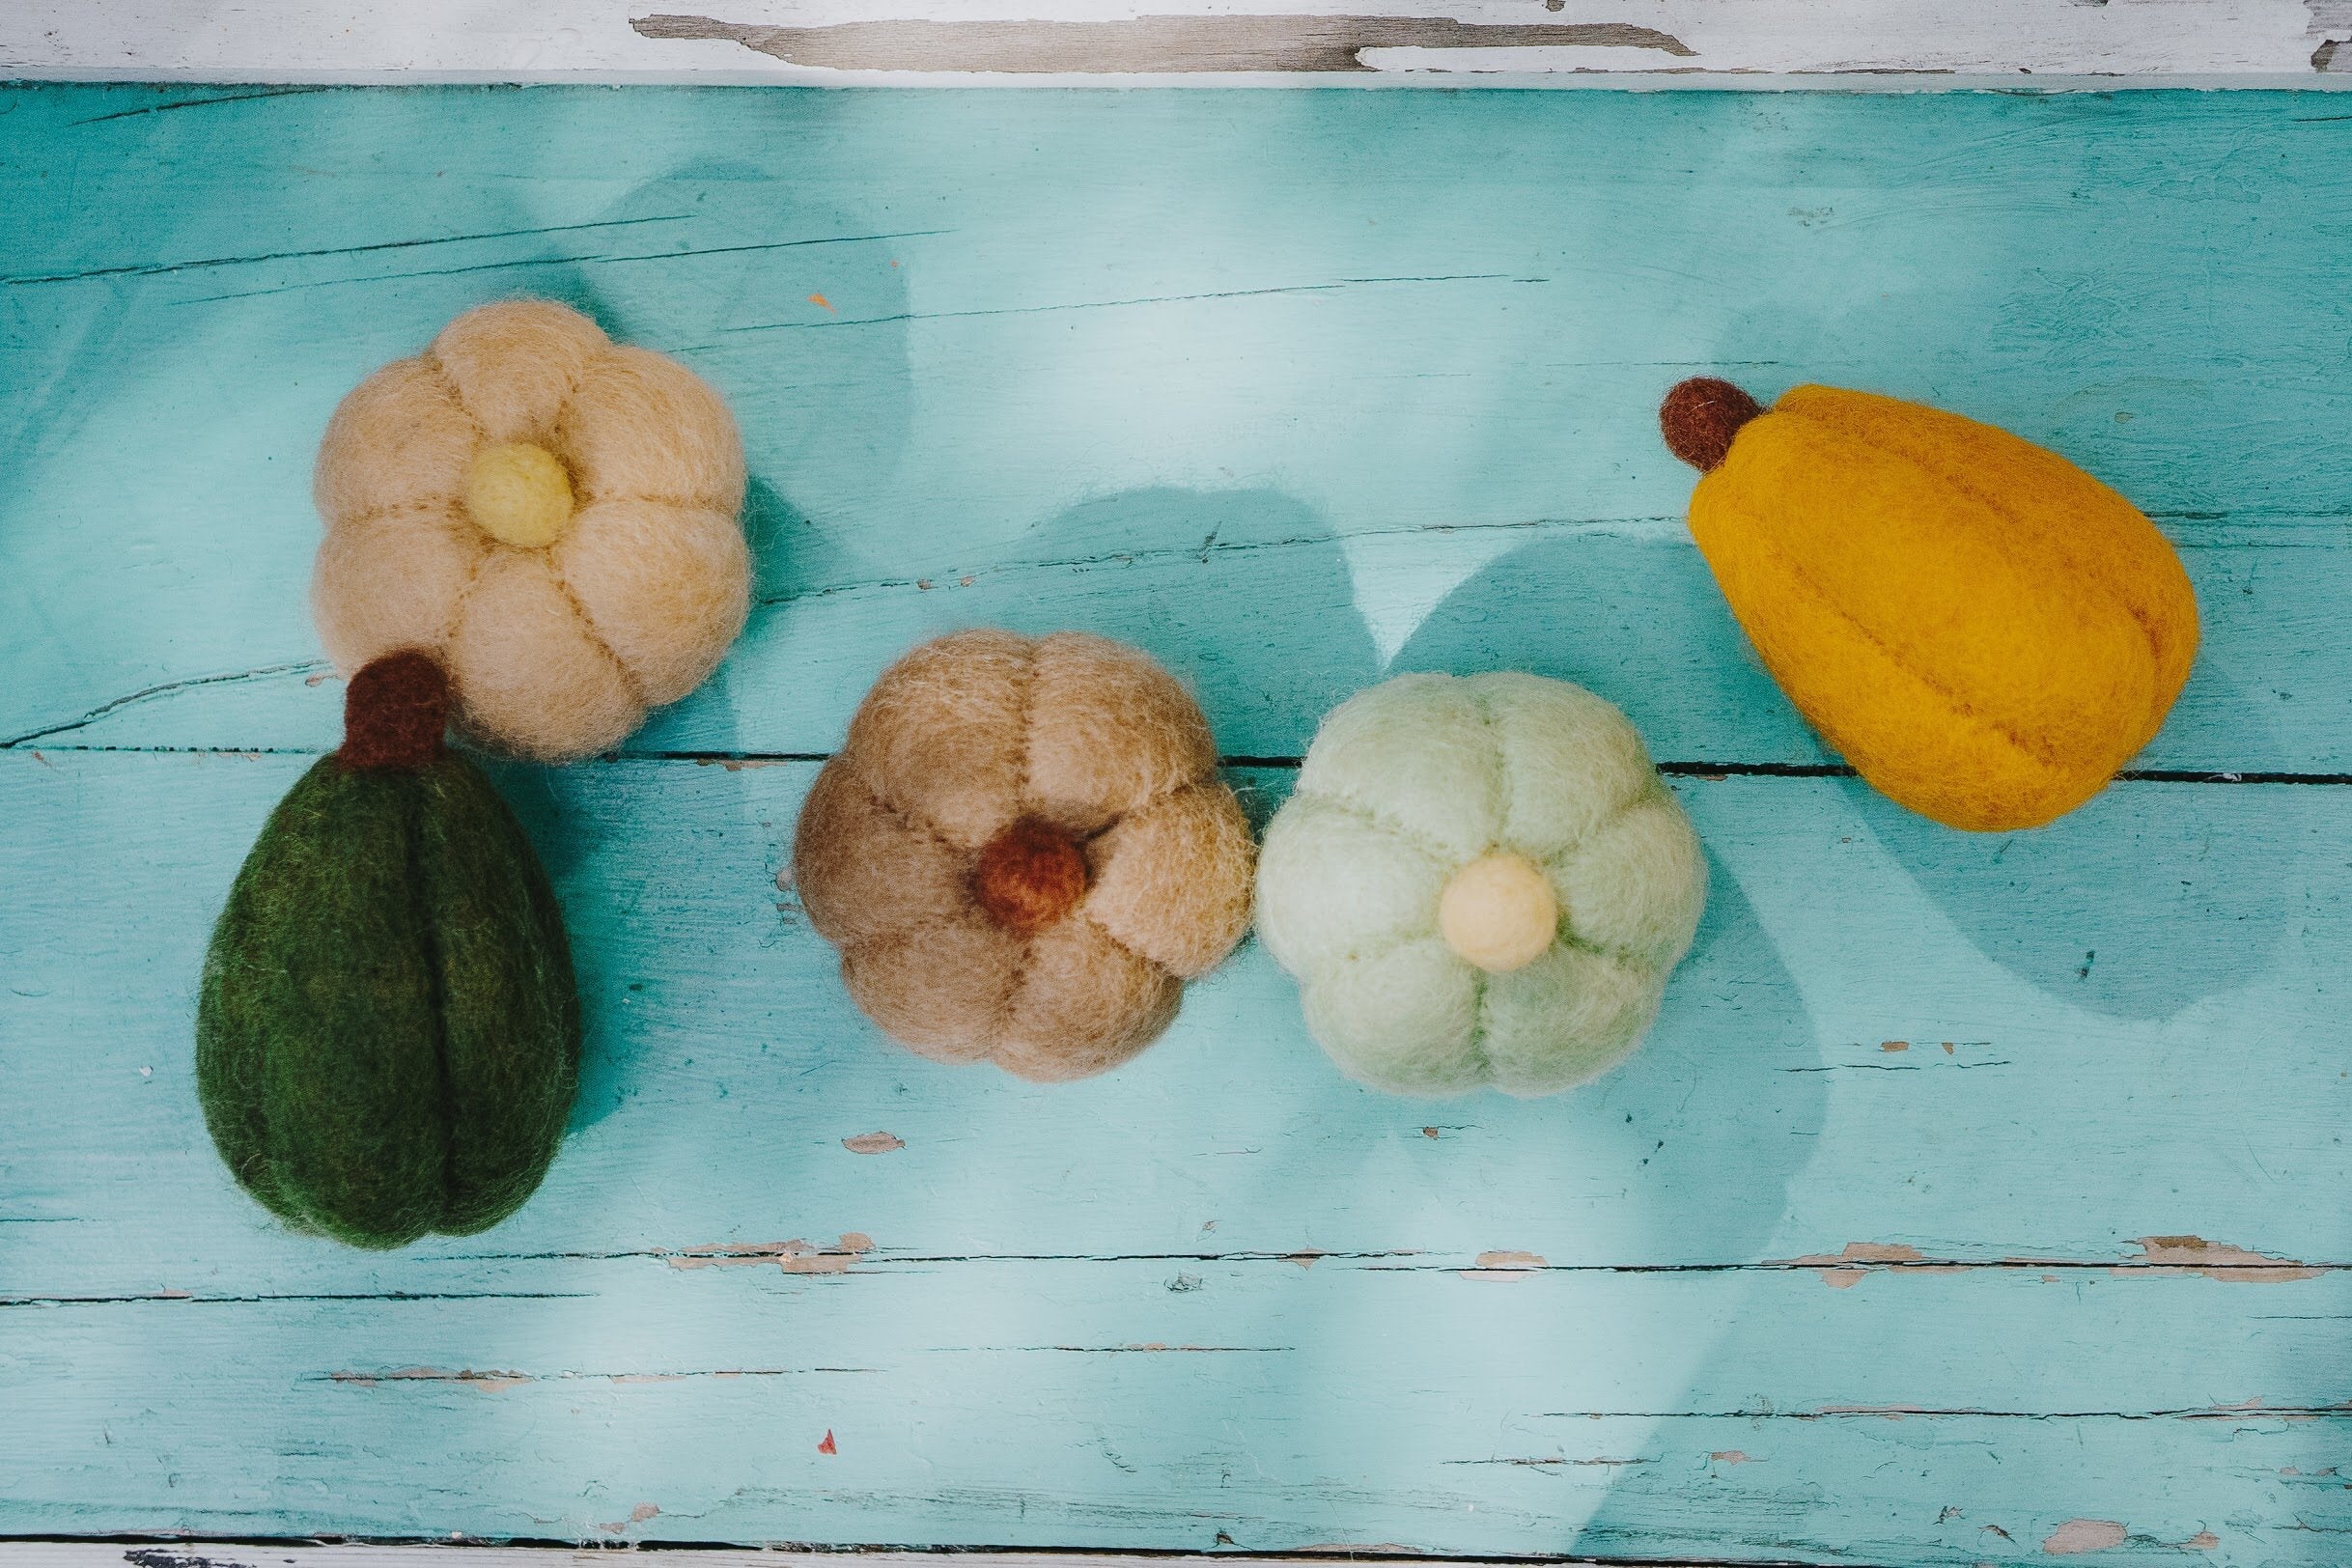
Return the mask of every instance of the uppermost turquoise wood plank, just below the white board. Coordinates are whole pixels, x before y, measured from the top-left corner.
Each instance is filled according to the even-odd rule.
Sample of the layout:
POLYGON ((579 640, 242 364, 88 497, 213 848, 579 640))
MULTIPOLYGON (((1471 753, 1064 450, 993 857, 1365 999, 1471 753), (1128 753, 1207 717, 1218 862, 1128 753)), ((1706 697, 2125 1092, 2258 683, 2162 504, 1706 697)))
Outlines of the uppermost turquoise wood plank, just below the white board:
POLYGON ((2352 769, 2352 125, 2310 96, 7 103, 0 738, 329 743, 318 430, 539 289, 684 353, 750 442, 767 602, 647 748, 823 750, 908 639, 1018 618, 1141 637, 1237 755, 1399 656, 1590 679, 1670 757, 1818 759, 1649 416, 1726 369, 2084 461, 2209 616, 2147 764, 2352 769), (1235 595, 1279 614, 1237 639, 1235 595))

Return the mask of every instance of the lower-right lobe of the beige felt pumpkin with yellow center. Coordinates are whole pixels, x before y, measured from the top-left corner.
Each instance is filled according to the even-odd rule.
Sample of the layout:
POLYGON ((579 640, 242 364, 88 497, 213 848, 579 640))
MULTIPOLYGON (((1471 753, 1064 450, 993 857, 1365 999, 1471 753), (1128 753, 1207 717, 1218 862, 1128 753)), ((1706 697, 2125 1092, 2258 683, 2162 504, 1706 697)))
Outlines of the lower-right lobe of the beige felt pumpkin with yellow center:
POLYGON ((550 555, 647 703, 675 703, 703 684, 750 614, 750 550, 731 512, 600 501, 550 555))

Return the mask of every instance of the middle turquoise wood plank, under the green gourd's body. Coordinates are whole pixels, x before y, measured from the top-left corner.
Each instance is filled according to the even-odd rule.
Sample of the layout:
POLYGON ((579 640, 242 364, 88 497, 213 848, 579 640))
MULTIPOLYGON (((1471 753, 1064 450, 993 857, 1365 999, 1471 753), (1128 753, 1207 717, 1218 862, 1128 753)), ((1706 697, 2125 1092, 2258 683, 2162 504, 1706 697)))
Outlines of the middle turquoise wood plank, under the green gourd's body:
MULTIPOLYGON (((793 1237, 880 1255, 1376 1253, 1461 1267, 2147 1258, 2352 1265, 2352 790, 2122 785, 2042 835, 1851 780, 1677 780, 1715 889, 1651 1044, 1592 1091, 1359 1091, 1244 950, 1110 1077, 913 1058, 776 889, 809 764, 513 769, 590 1009, 564 1159, 489 1237, 280 1234, 191 1086, 202 943, 299 757, 0 757, 0 1291, 374 1291, 793 1237), (68 1044, 71 1041, 71 1044, 68 1044), (1891 1051, 1889 1041, 1905 1048, 1891 1051), (1950 1041, 1950 1051, 1945 1044, 1950 1041), (856 1154, 889 1133, 906 1147, 856 1154), (158 1204, 155 1194, 172 1194, 158 1204), (454 1269, 454 1272, 452 1272, 454 1269)), ((1261 809, 1282 771, 1244 776, 1261 809)), ((437 1286, 440 1288, 440 1286, 437 1286)))

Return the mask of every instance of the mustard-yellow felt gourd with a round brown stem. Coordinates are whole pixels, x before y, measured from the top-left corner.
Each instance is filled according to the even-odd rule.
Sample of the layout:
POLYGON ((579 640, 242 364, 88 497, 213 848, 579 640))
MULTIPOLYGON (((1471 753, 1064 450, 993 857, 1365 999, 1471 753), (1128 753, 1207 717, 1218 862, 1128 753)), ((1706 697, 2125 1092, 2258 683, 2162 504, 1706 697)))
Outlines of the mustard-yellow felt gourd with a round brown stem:
POLYGON ((2006 430, 1696 378, 1658 411, 1705 470, 1691 538, 1764 668, 1846 762, 1950 827, 2039 827, 2154 738, 2197 597, 2129 501, 2006 430))

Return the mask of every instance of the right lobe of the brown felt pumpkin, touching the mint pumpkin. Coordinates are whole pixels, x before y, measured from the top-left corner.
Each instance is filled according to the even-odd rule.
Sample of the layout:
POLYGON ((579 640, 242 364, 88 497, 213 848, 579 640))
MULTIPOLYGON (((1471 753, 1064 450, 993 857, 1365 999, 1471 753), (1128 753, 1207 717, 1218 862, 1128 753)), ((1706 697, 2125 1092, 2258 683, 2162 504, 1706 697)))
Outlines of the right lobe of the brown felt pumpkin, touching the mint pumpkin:
POLYGON ((1209 973, 1249 931, 1256 846, 1223 780, 1122 816, 1087 853, 1087 917, 1174 976, 1209 973))

